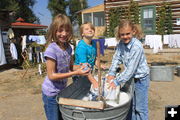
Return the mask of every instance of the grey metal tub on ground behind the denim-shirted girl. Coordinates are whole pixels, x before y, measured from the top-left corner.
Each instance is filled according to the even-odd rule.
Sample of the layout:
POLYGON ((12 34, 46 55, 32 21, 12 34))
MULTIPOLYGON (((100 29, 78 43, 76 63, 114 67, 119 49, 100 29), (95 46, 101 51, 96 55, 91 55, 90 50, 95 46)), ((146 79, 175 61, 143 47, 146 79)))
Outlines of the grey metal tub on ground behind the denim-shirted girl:
POLYGON ((152 81, 174 80, 174 66, 151 66, 150 79, 152 81))

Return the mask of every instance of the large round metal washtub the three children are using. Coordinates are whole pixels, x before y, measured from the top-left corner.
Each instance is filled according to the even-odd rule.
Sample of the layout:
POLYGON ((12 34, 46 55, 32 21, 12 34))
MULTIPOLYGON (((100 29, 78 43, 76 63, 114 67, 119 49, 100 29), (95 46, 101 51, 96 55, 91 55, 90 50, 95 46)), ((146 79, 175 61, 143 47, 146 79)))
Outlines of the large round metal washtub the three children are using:
MULTIPOLYGON (((85 96, 89 91, 90 83, 87 78, 80 78, 78 82, 68 86, 69 88, 62 91, 62 94, 60 93, 57 99, 59 99, 59 97, 81 99, 83 96, 85 96), (77 90, 75 90, 75 93, 73 93, 72 90, 75 88, 73 86, 77 87, 78 84, 81 88, 78 88, 80 91, 77 92, 77 90), (69 96, 68 92, 70 92, 72 96, 69 96)), ((123 105, 105 108, 104 110, 87 108, 79 109, 78 107, 74 106, 60 105, 59 108, 62 113, 62 117, 64 120, 126 120, 133 97, 134 80, 131 79, 126 82, 125 85, 121 88, 121 91, 128 93, 130 97, 129 101, 123 105)))

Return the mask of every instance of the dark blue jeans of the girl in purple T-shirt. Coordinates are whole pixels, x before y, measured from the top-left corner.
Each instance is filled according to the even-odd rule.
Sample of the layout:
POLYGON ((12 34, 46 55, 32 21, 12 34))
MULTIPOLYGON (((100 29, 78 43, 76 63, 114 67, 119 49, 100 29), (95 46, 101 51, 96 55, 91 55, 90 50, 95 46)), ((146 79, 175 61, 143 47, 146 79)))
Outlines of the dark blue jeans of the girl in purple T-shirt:
POLYGON ((47 120, 63 120, 59 111, 59 104, 56 102, 56 96, 46 96, 42 93, 42 100, 47 120))

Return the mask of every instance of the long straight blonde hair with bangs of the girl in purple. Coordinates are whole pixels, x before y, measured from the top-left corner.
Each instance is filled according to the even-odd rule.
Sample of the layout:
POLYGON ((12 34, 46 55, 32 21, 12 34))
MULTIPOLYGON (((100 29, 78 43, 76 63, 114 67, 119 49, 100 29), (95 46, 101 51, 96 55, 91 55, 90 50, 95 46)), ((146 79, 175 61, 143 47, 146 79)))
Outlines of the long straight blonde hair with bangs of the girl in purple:
POLYGON ((73 37, 73 30, 72 30, 72 24, 70 19, 63 14, 58 14, 54 17, 53 22, 51 23, 48 33, 47 33, 47 40, 48 43, 56 42, 58 43, 58 40, 56 38, 56 32, 60 28, 65 28, 68 30, 69 35, 68 35, 68 43, 73 37))

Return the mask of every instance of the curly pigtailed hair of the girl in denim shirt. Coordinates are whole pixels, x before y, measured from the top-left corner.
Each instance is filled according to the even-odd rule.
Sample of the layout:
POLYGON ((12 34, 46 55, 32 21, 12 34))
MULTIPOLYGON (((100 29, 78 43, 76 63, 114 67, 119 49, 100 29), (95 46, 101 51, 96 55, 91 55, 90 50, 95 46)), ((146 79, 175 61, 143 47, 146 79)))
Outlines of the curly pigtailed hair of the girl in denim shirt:
POLYGON ((117 40, 120 40, 120 29, 124 27, 131 27, 134 32, 133 36, 137 39, 142 39, 144 37, 142 28, 140 24, 133 24, 132 21, 128 19, 120 20, 119 25, 115 28, 115 37, 117 40))

